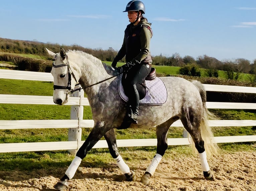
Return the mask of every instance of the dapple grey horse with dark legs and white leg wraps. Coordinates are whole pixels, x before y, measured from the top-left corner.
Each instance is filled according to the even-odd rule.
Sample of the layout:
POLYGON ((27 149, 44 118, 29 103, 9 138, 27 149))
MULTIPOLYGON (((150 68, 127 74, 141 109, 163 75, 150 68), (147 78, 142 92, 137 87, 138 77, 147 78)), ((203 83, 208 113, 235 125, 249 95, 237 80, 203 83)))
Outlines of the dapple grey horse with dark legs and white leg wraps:
MULTIPOLYGON (((68 181, 74 177, 82 159, 103 136, 107 141, 111 156, 116 160, 126 180, 132 181, 135 173, 130 170, 119 154, 115 136, 115 128, 119 128, 122 124, 128 107, 118 94, 120 70, 115 70, 100 59, 82 51, 65 52, 60 48, 60 52, 56 54, 47 48, 46 50, 49 56, 54 58, 51 70, 54 79, 54 103, 58 105, 67 103, 69 95, 76 91, 74 88, 79 83, 87 94, 94 120, 94 127, 89 136, 77 151, 65 175, 58 180, 54 188, 64 190, 68 187, 68 181)), ((139 123, 132 123, 129 127, 156 127, 156 155, 141 177, 141 182, 143 184, 150 182, 150 177, 153 176, 168 147, 168 129, 178 119, 181 120, 194 141, 205 179, 214 180, 207 155, 215 153, 218 145, 213 143, 213 133, 207 123, 211 113, 206 107, 206 91, 203 85, 199 81, 190 82, 180 77, 164 77, 161 80, 168 92, 166 102, 161 105, 140 104, 139 123), (207 154, 206 151, 208 151, 207 154)))

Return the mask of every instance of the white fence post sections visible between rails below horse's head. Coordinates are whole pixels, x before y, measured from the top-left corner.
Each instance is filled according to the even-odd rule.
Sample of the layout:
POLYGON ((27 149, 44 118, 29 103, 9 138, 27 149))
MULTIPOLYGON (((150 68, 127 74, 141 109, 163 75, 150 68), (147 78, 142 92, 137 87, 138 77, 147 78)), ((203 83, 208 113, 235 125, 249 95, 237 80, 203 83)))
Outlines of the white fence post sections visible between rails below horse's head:
MULTIPOLYGON (((80 85, 77 85, 75 89, 79 88, 80 85)), ((84 97, 84 90, 81 91, 76 91, 70 96, 72 97, 84 97)), ((80 127, 80 120, 83 120, 83 115, 84 115, 84 106, 83 105, 72 105, 71 110, 70 110, 70 119, 78 119, 78 127, 77 128, 69 128, 69 133, 68 133, 68 140, 69 141, 81 141, 82 138, 82 128, 80 127)), ((71 149, 69 150, 69 153, 72 155, 76 155, 78 149, 71 149)))

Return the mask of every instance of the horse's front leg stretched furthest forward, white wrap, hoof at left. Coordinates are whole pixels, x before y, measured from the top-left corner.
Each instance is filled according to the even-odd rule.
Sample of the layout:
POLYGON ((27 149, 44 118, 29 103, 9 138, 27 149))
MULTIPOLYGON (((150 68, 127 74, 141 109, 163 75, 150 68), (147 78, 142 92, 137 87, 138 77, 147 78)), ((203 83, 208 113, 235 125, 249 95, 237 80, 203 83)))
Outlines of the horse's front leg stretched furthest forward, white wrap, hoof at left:
POLYGON ((100 138, 110 130, 111 125, 104 125, 104 121, 96 122, 84 144, 79 148, 75 158, 66 170, 65 175, 53 186, 56 190, 65 190, 68 187, 68 181, 72 179, 77 168, 86 157, 86 154, 100 140, 100 138))

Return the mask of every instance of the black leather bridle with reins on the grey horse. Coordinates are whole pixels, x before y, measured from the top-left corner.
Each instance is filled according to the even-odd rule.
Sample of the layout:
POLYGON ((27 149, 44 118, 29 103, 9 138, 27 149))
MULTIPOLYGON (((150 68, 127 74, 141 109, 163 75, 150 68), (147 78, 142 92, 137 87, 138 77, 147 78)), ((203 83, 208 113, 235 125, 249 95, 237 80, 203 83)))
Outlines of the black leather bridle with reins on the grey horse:
MULTIPOLYGON (((116 77, 116 76, 111 76, 110 78, 107 78, 107 79, 105 79, 105 80, 102 80, 102 81, 100 81, 100 82, 96 82, 95 84, 92 84, 92 85, 90 85, 90 86, 87 86, 87 87, 85 87, 85 88, 78 88, 78 89, 75 89, 75 90, 73 90, 72 88, 71 88, 71 75, 74 77, 74 79, 76 80, 76 86, 78 86, 78 85, 80 85, 79 83, 78 83, 78 81, 77 81, 77 79, 76 79, 76 77, 75 77, 75 74, 72 72, 72 70, 71 70, 71 68, 70 68, 70 64, 69 64, 69 60, 68 60, 68 56, 66 56, 66 59, 67 59, 67 64, 60 64, 60 65, 54 65, 54 62, 52 63, 52 67, 53 68, 59 68, 59 67, 62 67, 62 66, 67 66, 68 67, 68 73, 69 73, 69 80, 68 80, 68 85, 67 86, 57 86, 57 85, 53 85, 53 90, 59 90, 59 89, 66 89, 66 90, 68 90, 67 92, 66 92, 66 94, 67 95, 70 95, 70 94, 72 94, 73 92, 76 92, 76 91, 81 91, 82 89, 86 89, 86 88, 89 88, 89 87, 92 87, 92 86, 94 86, 94 85, 97 85, 97 84, 100 84, 100 83, 102 83, 102 82, 105 82, 105 81, 107 81, 107 80, 110 80, 111 78, 114 78, 114 77, 116 77)), ((123 72, 121 72, 121 73, 123 73, 123 72)), ((121 74, 120 73, 120 74, 121 74)))

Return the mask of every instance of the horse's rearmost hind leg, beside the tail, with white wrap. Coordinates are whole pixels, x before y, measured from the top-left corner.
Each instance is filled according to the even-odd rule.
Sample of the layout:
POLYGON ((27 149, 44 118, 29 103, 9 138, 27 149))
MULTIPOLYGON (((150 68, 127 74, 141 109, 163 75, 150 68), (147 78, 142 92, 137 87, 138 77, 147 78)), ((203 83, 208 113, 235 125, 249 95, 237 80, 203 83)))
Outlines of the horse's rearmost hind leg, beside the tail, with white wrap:
POLYGON ((191 135, 195 143, 195 147, 198 150, 205 179, 214 180, 213 174, 210 170, 210 167, 207 161, 207 156, 206 156, 206 151, 204 146, 205 143, 204 143, 204 140, 202 139, 201 130, 199 128, 201 123, 200 117, 198 118, 191 114, 189 115, 189 113, 187 112, 185 115, 181 116, 180 120, 184 125, 184 128, 191 135))

